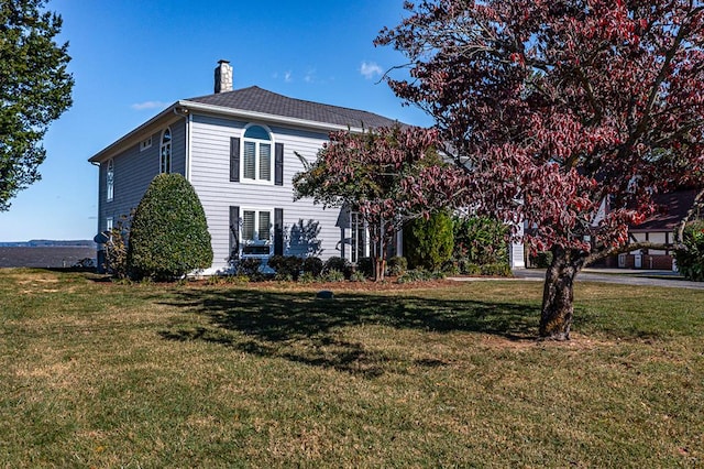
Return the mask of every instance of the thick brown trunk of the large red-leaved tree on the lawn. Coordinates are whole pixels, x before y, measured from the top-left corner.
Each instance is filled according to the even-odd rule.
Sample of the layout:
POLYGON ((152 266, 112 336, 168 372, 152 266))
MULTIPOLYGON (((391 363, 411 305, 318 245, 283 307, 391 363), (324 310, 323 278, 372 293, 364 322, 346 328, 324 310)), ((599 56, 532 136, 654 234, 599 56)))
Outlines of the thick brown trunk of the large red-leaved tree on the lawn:
POLYGON ((574 277, 583 257, 561 247, 552 248, 552 263, 546 272, 540 315, 540 337, 548 340, 570 340, 574 313, 574 277), (574 254, 574 255, 570 255, 574 254))

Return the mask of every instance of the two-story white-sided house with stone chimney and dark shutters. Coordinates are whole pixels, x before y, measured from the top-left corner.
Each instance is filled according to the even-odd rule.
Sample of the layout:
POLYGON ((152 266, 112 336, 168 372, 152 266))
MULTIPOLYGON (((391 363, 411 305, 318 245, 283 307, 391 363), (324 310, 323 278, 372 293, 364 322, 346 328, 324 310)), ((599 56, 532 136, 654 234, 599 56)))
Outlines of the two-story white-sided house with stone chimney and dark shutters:
POLYGON ((369 255, 356 214, 294 201, 292 179, 304 171, 297 155, 312 163, 330 131, 397 121, 258 87, 232 90, 227 61, 215 78, 213 95, 173 103, 90 157, 100 168, 98 232, 129 215, 154 176, 173 172, 190 182, 206 211, 213 250, 206 274, 228 271, 233 258, 369 255))

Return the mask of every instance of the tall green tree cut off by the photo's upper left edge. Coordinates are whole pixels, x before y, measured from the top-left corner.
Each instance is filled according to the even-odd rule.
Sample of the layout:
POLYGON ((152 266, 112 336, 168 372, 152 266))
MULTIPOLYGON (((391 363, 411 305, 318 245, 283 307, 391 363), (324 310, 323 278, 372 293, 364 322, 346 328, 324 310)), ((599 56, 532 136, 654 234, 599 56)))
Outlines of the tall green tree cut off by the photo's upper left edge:
POLYGON ((68 43, 55 42, 62 18, 44 3, 0 0, 0 211, 40 179, 44 134, 73 103, 68 43))

